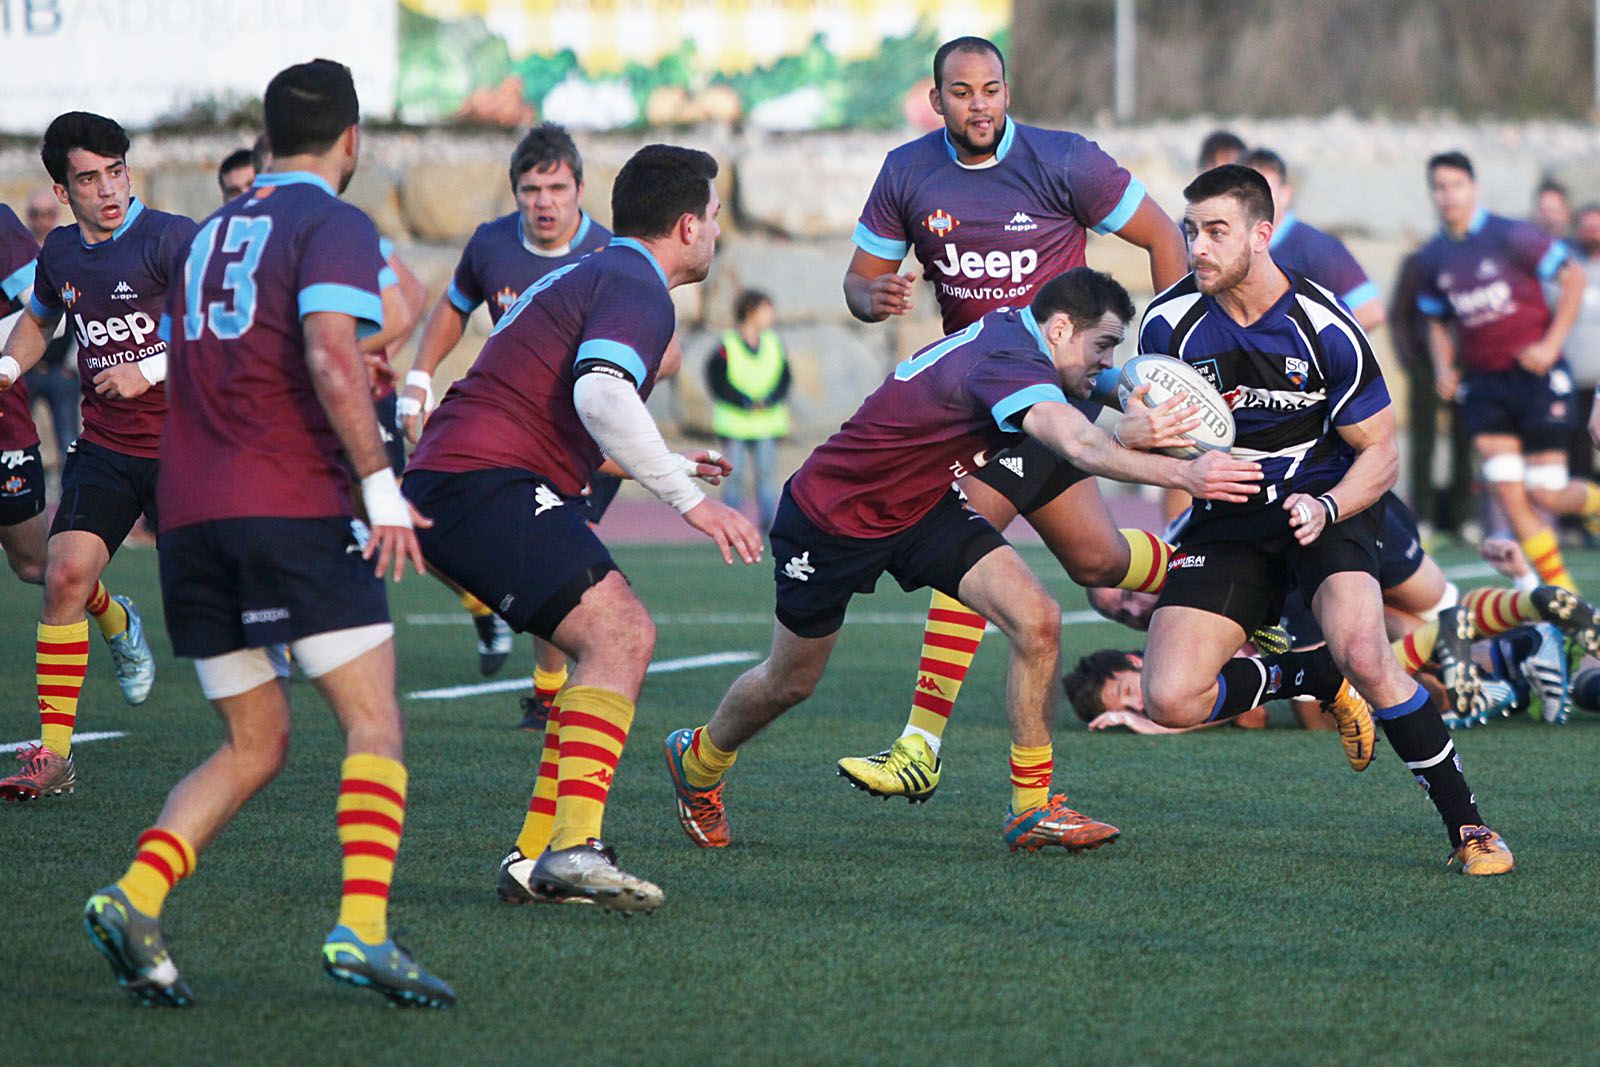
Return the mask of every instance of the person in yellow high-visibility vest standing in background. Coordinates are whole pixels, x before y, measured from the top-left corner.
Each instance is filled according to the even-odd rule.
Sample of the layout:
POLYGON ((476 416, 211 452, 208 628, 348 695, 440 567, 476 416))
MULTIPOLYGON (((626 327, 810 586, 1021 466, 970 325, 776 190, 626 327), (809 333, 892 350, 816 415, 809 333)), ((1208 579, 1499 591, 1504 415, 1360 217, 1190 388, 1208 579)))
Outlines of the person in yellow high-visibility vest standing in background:
POLYGON ((738 326, 722 334, 722 346, 706 363, 712 397, 712 429, 733 477, 722 486, 728 507, 744 504, 744 472, 755 482, 762 530, 778 510, 778 442, 789 437, 789 360, 773 330, 773 298, 746 290, 734 302, 738 326))

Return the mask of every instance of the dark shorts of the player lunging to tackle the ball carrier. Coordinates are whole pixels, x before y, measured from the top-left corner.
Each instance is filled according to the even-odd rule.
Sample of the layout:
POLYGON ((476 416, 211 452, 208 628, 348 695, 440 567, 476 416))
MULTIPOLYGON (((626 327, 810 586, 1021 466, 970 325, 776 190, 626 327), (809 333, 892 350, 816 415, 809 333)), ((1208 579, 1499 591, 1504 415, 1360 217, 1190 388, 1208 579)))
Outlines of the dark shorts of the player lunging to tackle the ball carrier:
POLYGON ((901 589, 933 587, 957 597, 978 560, 1006 539, 947 493, 909 530, 888 537, 840 537, 816 526, 784 485, 768 533, 778 579, 778 621, 800 637, 827 637, 845 622, 856 593, 870 593, 888 571, 901 589))

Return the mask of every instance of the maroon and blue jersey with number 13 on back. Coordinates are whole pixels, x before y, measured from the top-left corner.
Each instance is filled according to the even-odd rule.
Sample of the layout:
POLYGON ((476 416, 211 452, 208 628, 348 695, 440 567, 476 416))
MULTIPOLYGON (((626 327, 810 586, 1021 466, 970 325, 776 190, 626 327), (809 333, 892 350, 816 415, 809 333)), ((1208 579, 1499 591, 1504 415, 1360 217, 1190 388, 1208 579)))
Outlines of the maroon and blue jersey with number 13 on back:
POLYGON ((317 400, 301 320, 382 325, 378 230, 326 181, 267 173, 208 218, 162 331, 171 339, 162 530, 350 515, 350 475, 317 400))

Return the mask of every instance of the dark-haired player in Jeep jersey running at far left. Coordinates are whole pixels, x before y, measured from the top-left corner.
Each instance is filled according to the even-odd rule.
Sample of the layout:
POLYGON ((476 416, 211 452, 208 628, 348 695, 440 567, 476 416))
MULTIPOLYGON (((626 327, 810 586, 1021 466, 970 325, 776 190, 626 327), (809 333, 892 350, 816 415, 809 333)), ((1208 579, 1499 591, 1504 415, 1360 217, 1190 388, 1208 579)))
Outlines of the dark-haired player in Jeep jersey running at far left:
POLYGON ((110 648, 123 697, 142 704, 155 683, 138 608, 109 595, 99 579, 141 514, 158 526, 166 342, 155 328, 195 224, 146 208, 131 192, 126 155, 128 134, 110 118, 67 112, 50 123, 40 157, 75 226, 45 238, 34 294, 0 352, 5 392, 43 357, 66 315, 83 389, 83 435, 61 472, 61 507, 46 549, 37 646, 40 742, 18 753, 21 771, 0 781, 5 800, 72 792, 77 784, 72 731, 90 657, 85 611, 110 648))

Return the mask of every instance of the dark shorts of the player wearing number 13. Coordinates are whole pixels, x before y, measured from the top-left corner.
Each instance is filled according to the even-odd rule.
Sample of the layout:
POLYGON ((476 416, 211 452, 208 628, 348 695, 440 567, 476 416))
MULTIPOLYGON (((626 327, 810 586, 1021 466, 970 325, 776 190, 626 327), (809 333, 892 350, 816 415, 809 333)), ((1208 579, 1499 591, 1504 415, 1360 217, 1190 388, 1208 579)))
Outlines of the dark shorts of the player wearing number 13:
POLYGON ((194 659, 389 621, 352 518, 221 518, 160 536, 173 653, 194 659))

